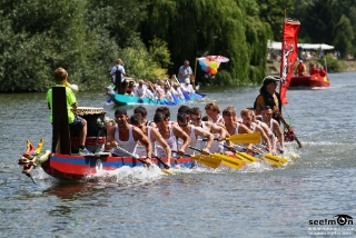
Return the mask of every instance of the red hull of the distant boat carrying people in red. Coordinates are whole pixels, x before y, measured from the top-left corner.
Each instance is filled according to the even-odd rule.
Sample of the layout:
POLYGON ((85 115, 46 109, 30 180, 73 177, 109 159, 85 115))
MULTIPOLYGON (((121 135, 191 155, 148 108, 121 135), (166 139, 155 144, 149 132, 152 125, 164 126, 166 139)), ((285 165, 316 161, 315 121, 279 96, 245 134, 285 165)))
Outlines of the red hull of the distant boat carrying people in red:
POLYGON ((291 77, 289 87, 329 87, 330 81, 327 77, 320 77, 319 75, 313 76, 294 76, 291 77))

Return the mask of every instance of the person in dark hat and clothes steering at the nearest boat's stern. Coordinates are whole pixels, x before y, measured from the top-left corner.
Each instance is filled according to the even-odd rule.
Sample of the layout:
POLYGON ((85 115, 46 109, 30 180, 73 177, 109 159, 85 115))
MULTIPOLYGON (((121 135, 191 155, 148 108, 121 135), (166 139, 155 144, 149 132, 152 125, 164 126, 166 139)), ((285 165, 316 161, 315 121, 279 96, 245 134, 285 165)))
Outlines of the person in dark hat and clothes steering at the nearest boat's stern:
POLYGON ((280 119, 278 117, 281 113, 281 100, 277 89, 277 82, 279 82, 279 77, 267 76, 264 79, 264 85, 259 89, 259 95, 257 96, 254 109, 256 110, 256 115, 260 115, 261 110, 269 106, 273 109, 273 119, 277 120, 280 123, 280 119))

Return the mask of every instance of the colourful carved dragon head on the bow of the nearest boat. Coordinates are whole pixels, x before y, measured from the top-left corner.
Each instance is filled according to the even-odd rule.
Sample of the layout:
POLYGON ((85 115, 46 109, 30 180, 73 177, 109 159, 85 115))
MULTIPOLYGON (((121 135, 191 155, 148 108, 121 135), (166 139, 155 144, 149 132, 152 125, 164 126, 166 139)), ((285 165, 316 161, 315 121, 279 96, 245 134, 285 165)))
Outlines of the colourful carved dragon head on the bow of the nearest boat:
POLYGON ((41 153, 44 140, 41 139, 37 148, 33 149, 33 146, 29 140, 26 141, 26 152, 20 157, 19 165, 23 166, 22 173, 30 173, 33 168, 38 167, 46 160, 50 155, 49 150, 46 150, 43 155, 41 153))

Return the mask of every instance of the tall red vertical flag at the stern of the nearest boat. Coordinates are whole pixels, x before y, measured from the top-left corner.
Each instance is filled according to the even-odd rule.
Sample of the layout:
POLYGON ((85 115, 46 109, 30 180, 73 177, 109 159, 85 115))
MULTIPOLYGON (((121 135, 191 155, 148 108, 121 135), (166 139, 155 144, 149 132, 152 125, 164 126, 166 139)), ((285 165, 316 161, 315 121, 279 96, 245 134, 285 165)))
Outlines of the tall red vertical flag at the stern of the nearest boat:
POLYGON ((287 89, 294 71, 294 63, 298 57, 298 31, 300 22, 285 19, 281 36, 281 62, 279 93, 283 105, 287 105, 287 89))

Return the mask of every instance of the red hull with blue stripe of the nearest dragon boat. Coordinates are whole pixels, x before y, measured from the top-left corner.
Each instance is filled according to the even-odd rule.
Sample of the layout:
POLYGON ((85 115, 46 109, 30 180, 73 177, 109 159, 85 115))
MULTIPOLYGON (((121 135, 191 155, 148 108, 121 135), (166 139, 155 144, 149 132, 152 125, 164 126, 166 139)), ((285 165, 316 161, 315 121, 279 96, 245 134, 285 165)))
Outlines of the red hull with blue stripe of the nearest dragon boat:
MULTIPOLYGON (((166 158, 161 159, 164 162, 166 158)), ((194 159, 179 158, 171 159, 171 166, 180 165, 181 167, 192 168, 194 159)), ((156 158, 152 162, 159 165, 156 158)), ((49 159, 41 163, 42 169, 50 176, 60 180, 82 180, 88 176, 102 175, 102 171, 112 171, 123 166, 137 167, 144 163, 129 157, 109 157, 109 156, 68 156, 51 153, 49 159)))

